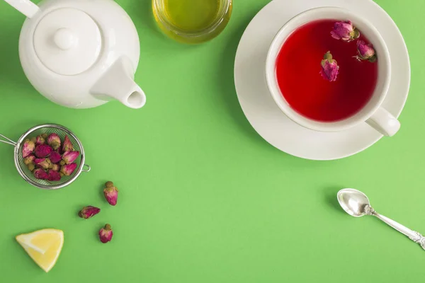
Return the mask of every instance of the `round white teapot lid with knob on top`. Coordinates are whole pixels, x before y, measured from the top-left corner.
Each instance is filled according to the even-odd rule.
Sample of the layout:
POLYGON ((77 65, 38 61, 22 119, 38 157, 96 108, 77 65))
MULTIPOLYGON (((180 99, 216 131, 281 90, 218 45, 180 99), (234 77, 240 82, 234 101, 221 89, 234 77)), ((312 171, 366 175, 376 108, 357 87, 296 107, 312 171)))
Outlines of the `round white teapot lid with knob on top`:
POLYGON ((42 64, 64 76, 89 69, 102 49, 98 25, 88 14, 75 8, 47 13, 35 28, 33 40, 42 64))

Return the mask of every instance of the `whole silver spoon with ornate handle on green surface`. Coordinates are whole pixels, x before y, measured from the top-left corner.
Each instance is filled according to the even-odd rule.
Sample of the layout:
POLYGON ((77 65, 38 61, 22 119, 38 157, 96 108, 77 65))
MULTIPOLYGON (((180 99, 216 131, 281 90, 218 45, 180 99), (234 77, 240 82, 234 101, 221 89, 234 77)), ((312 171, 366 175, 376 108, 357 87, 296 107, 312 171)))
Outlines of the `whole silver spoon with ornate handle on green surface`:
POLYGON ((368 197, 366 197, 363 192, 354 189, 343 189, 338 192, 337 197, 339 204, 346 213, 354 217, 361 217, 365 214, 376 216, 392 228, 408 236, 415 243, 419 243, 419 245, 421 245, 421 247, 425 250, 424 236, 416 231, 410 230, 392 219, 389 219, 387 216, 383 216, 382 214, 375 212, 375 209, 370 206, 368 197))

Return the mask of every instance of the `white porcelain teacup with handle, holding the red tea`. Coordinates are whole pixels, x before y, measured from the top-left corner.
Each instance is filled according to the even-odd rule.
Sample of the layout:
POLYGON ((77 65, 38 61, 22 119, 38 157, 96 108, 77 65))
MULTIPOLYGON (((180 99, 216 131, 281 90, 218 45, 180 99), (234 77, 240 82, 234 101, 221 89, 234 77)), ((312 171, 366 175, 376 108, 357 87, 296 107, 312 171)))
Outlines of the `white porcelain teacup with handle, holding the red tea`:
MULTIPOLYGON (((331 30, 329 30, 329 36, 330 32, 331 30)), ((381 134, 390 137, 397 133, 400 128, 399 121, 381 106, 382 102, 385 100, 385 96, 387 96, 391 80, 391 62, 387 45, 378 30, 371 23, 366 21, 361 15, 346 9, 336 7, 313 8, 300 13, 283 25, 276 37, 274 37, 270 49, 268 50, 266 59, 266 80, 271 96, 273 96, 280 110, 302 127, 319 132, 338 132, 366 122, 381 134), (353 25, 370 40, 378 54, 378 82, 373 96, 359 112, 344 120, 335 122, 319 122, 300 115, 286 102, 280 92, 276 79, 276 59, 288 36, 301 25, 322 19, 334 19, 337 21, 349 20, 353 22, 353 25)))

